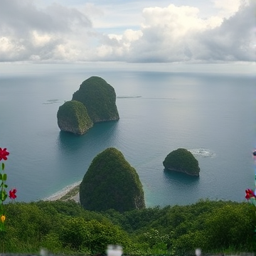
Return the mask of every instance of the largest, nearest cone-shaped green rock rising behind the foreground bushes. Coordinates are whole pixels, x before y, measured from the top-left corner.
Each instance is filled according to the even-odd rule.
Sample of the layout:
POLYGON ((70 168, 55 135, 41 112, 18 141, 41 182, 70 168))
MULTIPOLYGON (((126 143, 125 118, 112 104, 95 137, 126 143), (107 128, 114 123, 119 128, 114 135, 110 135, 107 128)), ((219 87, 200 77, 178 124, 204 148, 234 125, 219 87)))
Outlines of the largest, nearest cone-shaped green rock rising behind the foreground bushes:
POLYGON ((83 208, 96 211, 145 208, 137 171, 120 151, 108 148, 95 156, 80 183, 80 203, 83 208))

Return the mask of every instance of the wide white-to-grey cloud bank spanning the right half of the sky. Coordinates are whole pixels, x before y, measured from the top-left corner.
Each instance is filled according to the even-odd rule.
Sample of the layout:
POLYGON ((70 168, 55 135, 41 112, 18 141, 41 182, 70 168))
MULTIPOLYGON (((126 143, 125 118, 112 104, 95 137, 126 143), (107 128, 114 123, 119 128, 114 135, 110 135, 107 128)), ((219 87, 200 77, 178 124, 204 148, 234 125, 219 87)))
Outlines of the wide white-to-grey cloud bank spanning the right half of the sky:
POLYGON ((230 18, 207 19, 190 6, 144 9, 141 32, 123 57, 132 62, 254 61, 254 8, 250 2, 230 18))

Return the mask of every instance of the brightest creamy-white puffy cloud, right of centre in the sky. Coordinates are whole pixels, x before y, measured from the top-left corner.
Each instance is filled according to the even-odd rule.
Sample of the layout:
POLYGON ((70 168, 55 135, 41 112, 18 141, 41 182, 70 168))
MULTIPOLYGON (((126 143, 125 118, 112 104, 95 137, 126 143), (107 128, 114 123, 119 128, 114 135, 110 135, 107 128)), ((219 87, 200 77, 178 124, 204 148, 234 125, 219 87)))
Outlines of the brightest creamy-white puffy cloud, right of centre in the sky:
POLYGON ((142 62, 174 62, 191 59, 191 38, 197 33, 220 26, 222 19, 198 17, 199 10, 190 6, 143 10, 144 23, 137 40, 129 43, 127 60, 142 62))

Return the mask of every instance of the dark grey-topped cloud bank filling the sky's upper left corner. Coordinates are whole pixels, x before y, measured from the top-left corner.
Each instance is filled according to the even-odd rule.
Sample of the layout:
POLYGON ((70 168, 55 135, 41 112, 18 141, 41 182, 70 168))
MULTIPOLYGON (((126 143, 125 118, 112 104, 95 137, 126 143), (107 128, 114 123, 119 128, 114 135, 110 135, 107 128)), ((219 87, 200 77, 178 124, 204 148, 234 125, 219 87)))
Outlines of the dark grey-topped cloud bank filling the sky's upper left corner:
POLYGON ((90 20, 77 9, 57 4, 38 9, 29 0, 1 0, 0 61, 70 58, 74 50, 68 44, 76 47, 90 28, 90 20))

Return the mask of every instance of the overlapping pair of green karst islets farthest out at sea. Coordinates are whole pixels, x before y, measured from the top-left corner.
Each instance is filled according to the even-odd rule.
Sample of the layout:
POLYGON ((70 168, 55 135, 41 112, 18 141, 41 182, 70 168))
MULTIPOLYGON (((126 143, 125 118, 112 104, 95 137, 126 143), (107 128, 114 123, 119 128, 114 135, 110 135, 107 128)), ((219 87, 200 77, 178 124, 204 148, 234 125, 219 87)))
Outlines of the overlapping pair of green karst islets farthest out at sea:
POLYGON ((72 100, 59 107, 57 119, 61 131, 74 134, 85 134, 96 122, 118 120, 114 88, 100 77, 88 78, 72 100))

